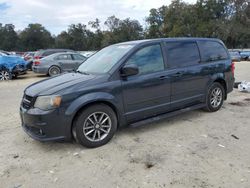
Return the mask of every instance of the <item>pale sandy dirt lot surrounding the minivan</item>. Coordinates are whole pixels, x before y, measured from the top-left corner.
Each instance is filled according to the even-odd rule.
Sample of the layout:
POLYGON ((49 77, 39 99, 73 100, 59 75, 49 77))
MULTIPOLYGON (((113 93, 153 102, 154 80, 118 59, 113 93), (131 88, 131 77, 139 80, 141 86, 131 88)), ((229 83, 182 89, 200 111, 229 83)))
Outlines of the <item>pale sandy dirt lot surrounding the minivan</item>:
MULTIPOLYGON (((236 80, 250 81, 250 62, 236 80)), ((0 187, 250 187, 250 94, 235 90, 217 113, 188 112, 118 131, 100 148, 40 143, 22 130, 29 73, 0 83, 0 187)))

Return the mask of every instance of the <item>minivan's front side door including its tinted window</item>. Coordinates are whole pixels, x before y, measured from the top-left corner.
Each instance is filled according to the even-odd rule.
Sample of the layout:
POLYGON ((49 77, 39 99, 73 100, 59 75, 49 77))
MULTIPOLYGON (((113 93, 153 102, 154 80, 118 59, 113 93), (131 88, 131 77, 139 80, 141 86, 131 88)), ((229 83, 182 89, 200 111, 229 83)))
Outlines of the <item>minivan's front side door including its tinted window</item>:
POLYGON ((129 123, 170 109, 170 79, 160 43, 144 46, 128 58, 139 73, 122 79, 124 111, 129 123))

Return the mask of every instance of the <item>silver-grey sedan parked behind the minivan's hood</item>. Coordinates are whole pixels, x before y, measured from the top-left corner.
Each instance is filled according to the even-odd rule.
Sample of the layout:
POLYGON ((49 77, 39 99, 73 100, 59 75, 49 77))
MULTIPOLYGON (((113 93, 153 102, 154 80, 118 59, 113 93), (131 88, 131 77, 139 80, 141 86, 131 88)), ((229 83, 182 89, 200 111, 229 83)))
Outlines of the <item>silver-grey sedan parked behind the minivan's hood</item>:
POLYGON ((36 60, 32 66, 35 73, 55 76, 62 72, 76 70, 87 58, 79 53, 63 52, 36 60))

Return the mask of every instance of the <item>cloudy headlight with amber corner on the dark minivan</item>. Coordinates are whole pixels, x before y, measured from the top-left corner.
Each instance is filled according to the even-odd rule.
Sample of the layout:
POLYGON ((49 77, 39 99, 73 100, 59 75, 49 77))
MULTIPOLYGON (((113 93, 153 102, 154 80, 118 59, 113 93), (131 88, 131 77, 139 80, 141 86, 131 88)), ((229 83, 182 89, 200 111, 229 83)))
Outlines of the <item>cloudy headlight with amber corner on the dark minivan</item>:
POLYGON ((62 97, 58 95, 40 96, 36 98, 35 108, 41 110, 51 110, 60 106, 62 97))

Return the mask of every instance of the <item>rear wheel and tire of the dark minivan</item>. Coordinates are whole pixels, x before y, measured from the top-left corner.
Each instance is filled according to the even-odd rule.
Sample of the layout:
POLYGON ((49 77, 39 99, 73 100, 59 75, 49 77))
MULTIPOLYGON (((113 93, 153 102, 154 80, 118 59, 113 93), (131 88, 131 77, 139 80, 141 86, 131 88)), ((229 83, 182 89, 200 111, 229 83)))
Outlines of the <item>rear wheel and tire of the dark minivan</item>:
POLYGON ((225 88, 218 82, 214 82, 208 89, 205 111, 216 112, 223 105, 225 88))

